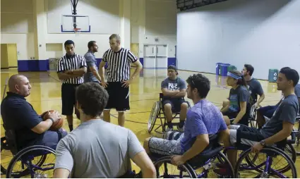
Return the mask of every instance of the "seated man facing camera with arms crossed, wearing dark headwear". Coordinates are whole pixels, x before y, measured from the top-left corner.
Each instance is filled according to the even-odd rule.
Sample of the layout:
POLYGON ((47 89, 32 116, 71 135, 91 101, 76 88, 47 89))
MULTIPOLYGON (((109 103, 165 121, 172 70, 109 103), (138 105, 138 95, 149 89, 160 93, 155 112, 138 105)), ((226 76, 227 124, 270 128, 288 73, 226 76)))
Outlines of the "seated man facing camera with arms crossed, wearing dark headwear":
POLYGON ((184 132, 184 121, 186 121, 186 111, 188 104, 184 101, 186 96, 186 82, 177 77, 178 73, 175 66, 168 67, 168 78, 162 81, 162 106, 164 107, 164 115, 167 120, 167 131, 173 130, 172 112, 180 111, 179 131, 184 132))

